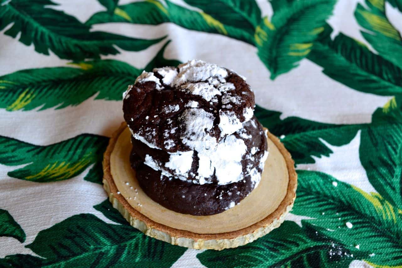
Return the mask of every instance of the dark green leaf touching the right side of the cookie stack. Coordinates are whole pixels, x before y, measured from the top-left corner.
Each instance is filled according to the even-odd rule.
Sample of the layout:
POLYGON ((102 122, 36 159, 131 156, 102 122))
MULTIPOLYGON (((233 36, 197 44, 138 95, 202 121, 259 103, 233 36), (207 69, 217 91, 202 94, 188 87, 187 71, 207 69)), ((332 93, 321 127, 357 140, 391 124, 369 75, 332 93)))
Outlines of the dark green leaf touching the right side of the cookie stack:
POLYGON ((332 150, 322 140, 334 146, 348 144, 363 126, 361 124, 326 124, 298 117, 281 120, 280 112, 269 111, 258 105, 255 107, 254 114, 271 133, 276 136, 285 135, 281 138, 281 142, 285 144, 296 164, 315 163, 312 156, 328 157, 332 150))

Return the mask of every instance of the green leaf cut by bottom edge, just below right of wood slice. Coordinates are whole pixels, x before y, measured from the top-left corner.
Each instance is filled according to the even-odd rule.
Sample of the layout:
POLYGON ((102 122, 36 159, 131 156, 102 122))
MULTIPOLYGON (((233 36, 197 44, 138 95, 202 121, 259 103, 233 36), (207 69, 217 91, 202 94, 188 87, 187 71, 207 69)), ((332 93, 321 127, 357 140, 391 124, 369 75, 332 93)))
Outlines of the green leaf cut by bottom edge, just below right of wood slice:
POLYGON ((294 222, 285 221, 256 241, 222 251, 197 254, 207 267, 349 267, 353 260, 347 251, 330 241, 321 240, 294 222), (339 255, 338 253, 341 253, 339 255), (349 257, 345 258, 345 254, 349 257))

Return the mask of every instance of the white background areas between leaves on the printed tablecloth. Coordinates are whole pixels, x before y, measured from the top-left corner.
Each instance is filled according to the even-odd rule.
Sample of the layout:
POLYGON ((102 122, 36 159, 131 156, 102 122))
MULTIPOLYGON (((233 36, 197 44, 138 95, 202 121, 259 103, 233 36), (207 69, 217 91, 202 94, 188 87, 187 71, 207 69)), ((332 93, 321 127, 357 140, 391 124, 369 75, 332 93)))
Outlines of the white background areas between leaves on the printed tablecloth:
MULTIPOLYGON (((76 16, 82 22, 95 12, 104 10, 96 0, 55 2, 60 4, 57 9, 76 16)), ((133 1, 121 0, 120 4, 126 2, 133 1)), ((185 5, 179 0, 172 2, 185 5)), ((353 16, 357 2, 364 5, 363 0, 339 0, 334 9, 335 16, 328 23, 334 28, 334 35, 340 31, 368 45, 353 16)), ((267 0, 259 0, 258 4, 263 15, 271 16, 272 10, 267 0)), ((401 18, 402 14, 388 4, 387 10, 391 22, 401 31, 402 20, 398 17, 401 18)), ((13 39, 4 35, 9 28, 0 33, 0 75, 27 68, 65 66, 68 62, 52 52, 49 56, 38 54, 33 45, 18 42, 19 36, 13 39)), ((256 103, 270 110, 281 111, 282 119, 295 115, 319 122, 367 123, 373 111, 390 99, 350 89, 322 74, 322 68, 308 60, 302 60, 298 68, 272 81, 252 45, 222 35, 190 31, 172 23, 157 26, 110 23, 95 25, 93 31, 96 30, 140 38, 167 34, 172 42, 166 49, 165 58, 182 62, 197 58, 235 70, 247 77, 255 92, 256 103)), ((102 58, 121 60, 144 68, 166 41, 140 52, 118 48, 120 54, 102 58)), ((0 109, 0 135, 38 145, 60 142, 82 133, 111 136, 123 121, 121 106, 121 101, 94 100, 92 97, 80 105, 60 110, 8 112, 0 109)), ((299 165, 297 168, 323 171, 367 192, 374 191, 359 161, 359 143, 360 132, 345 146, 328 145, 334 151, 330 157, 316 158, 315 164, 299 165)), ((102 186, 83 180, 90 167, 77 177, 54 183, 35 183, 8 177, 7 172, 15 168, 0 165, 0 207, 8 210, 21 225, 27 239, 20 243, 14 238, 0 237, 0 258, 16 253, 35 255, 24 246, 31 243, 42 229, 74 214, 92 213, 111 222, 93 208, 107 196, 102 186)), ((288 219, 300 223, 301 217, 290 214, 288 219)), ((174 267, 202 266, 195 257, 197 253, 196 250, 187 250, 174 267)), ((363 265, 359 261, 351 264, 355 267, 363 265)))

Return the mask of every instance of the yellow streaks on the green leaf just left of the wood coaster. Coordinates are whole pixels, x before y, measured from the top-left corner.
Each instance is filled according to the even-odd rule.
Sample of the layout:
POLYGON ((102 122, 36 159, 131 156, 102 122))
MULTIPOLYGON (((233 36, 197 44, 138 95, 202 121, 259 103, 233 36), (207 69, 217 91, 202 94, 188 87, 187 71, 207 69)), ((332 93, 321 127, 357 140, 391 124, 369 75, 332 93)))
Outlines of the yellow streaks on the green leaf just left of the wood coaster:
POLYGON ((67 179, 69 177, 74 176, 74 174, 87 165, 91 163, 90 159, 82 159, 78 163, 75 163, 74 165, 71 165, 70 163, 66 163, 66 161, 63 161, 61 163, 58 163, 57 161, 55 163, 47 165, 45 168, 43 168, 39 173, 35 175, 31 175, 28 177, 25 177, 27 180, 37 180, 37 179, 42 179, 46 178, 47 180, 51 179, 57 179, 57 180, 62 180, 62 179, 67 179))

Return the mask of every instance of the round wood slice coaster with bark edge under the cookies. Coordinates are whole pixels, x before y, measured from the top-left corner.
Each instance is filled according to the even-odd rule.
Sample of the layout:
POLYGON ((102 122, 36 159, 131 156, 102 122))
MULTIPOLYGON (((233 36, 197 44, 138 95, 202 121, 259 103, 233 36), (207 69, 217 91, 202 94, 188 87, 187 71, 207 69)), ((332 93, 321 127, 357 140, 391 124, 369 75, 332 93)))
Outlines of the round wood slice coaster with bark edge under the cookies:
POLYGON ((181 214, 150 199, 130 166, 130 137, 123 123, 110 139, 103 158, 103 186, 113 207, 146 235, 194 249, 238 247, 279 227, 293 206, 297 187, 294 162, 269 132, 269 155, 258 187, 240 204, 211 216, 181 214))

